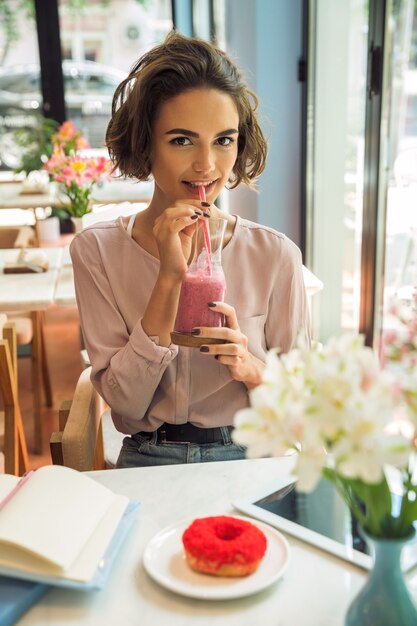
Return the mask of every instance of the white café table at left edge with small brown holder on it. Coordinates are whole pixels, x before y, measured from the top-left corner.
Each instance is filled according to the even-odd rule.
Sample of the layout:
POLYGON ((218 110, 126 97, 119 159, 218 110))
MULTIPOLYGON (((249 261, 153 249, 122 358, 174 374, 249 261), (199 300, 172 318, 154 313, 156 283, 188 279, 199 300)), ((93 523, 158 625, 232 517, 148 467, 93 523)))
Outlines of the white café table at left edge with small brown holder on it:
POLYGON ((48 258, 49 268, 46 272, 4 274, 5 262, 16 260, 19 250, 0 250, 0 311, 41 311, 54 302, 63 248, 30 249, 31 254, 37 251, 48 258))

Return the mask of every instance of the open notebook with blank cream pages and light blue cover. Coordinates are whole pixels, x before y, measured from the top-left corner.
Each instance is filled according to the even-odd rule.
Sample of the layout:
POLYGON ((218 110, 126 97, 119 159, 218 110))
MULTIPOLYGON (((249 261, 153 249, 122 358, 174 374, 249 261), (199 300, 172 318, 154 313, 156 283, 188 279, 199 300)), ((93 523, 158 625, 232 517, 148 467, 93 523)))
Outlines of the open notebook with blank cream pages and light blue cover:
POLYGON ((99 589, 138 503, 85 474, 48 465, 26 480, 0 475, 0 509, 0 574, 99 589))

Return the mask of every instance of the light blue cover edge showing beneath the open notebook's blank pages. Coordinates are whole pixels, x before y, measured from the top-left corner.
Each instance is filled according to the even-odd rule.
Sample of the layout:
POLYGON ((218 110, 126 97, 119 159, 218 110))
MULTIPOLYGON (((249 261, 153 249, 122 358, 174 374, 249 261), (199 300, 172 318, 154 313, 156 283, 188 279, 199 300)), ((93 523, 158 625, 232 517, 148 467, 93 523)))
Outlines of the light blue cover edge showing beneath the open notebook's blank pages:
MULTIPOLYGON (((67 580, 65 578, 54 578, 52 576, 40 576, 28 572, 13 570, 6 567, 0 568, 0 576, 5 575, 19 580, 30 580, 35 581, 36 583, 53 585, 56 587, 68 587, 70 589, 80 589, 84 591, 98 591, 99 589, 102 589, 106 583, 113 562, 119 553, 120 547, 122 546, 131 526, 133 525, 133 522, 137 519, 138 510, 139 502, 131 500, 126 507, 123 517, 119 522, 119 525, 113 535, 111 542, 107 547, 106 552, 104 553, 103 558, 100 561, 99 566, 97 567, 96 573, 94 574, 93 578, 86 583, 78 582, 75 580, 67 580)), ((3 626, 3 622, 1 621, 1 619, 0 626, 3 626)))

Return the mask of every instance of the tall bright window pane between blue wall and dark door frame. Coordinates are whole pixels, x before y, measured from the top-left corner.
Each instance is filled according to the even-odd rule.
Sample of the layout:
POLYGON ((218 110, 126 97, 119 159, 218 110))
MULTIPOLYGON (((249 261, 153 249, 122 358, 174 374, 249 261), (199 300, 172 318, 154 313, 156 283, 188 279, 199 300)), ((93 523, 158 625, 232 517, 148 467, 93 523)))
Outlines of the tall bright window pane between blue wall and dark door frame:
POLYGON ((307 266, 320 340, 359 324, 365 148, 367 0, 311 3, 307 266))

